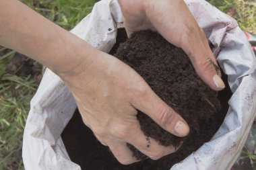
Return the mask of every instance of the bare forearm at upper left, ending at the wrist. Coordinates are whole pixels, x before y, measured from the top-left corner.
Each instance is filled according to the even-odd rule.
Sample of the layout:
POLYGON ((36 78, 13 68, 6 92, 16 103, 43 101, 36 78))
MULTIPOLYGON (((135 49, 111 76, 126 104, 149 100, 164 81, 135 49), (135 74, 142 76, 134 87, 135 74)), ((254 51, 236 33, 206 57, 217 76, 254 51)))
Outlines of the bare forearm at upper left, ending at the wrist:
POLYGON ((0 45, 30 56, 55 73, 77 68, 93 50, 17 0, 0 0, 0 45))

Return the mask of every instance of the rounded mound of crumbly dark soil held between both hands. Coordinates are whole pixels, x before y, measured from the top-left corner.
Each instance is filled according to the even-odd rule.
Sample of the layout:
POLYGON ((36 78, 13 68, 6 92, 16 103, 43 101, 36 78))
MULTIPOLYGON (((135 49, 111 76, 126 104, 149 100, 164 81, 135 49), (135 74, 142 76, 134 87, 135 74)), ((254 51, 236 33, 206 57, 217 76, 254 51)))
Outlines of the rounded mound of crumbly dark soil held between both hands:
MULTIPOLYGON (((205 126, 214 122, 220 111, 218 92, 201 81, 181 48, 157 33, 136 32, 119 46, 114 56, 137 71, 153 91, 187 121, 191 130, 187 137, 174 136, 138 110, 137 119, 144 134, 164 146, 178 147, 183 142, 180 150, 191 153, 192 146, 196 145, 192 139, 207 136, 203 134, 205 126)), ((131 144, 127 145, 137 159, 147 158, 131 144)))

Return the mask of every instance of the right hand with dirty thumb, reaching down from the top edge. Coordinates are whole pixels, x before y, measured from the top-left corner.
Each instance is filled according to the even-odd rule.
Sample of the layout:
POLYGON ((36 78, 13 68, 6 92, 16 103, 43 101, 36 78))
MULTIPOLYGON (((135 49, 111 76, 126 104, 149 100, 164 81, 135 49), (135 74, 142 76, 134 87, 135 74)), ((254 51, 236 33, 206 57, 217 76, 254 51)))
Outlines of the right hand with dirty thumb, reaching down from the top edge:
POLYGON ((205 34, 183 0, 119 0, 119 4, 128 36, 139 30, 156 30, 168 42, 183 48, 207 85, 224 89, 205 34))

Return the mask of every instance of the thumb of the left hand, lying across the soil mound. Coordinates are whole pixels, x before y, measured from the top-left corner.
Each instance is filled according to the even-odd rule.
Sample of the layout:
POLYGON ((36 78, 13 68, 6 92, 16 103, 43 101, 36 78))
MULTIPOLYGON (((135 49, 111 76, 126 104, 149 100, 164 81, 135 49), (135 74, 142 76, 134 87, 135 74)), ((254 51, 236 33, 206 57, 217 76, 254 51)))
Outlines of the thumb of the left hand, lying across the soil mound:
POLYGON ((150 116, 164 130, 180 137, 189 134, 187 122, 164 103, 150 87, 134 97, 131 103, 134 108, 150 116))

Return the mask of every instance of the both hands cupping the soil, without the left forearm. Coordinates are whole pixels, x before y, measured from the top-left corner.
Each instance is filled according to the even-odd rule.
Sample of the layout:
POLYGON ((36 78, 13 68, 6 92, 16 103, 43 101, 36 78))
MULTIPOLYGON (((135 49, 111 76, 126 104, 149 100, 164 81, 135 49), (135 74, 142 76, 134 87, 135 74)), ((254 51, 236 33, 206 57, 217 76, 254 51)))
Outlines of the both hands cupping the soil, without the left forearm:
MULTIPOLYGON (((204 32, 199 28, 183 0, 119 0, 128 36, 139 30, 156 30, 168 42, 183 48, 201 79, 215 90, 224 88, 220 73, 204 32)), ((90 55, 72 70, 60 73, 73 93, 86 126, 96 138, 109 146, 120 163, 138 160, 127 142, 151 159, 175 151, 154 139, 147 147, 137 111, 147 114, 162 128, 186 136, 189 126, 150 89, 131 67, 104 52, 91 49, 90 55)))

